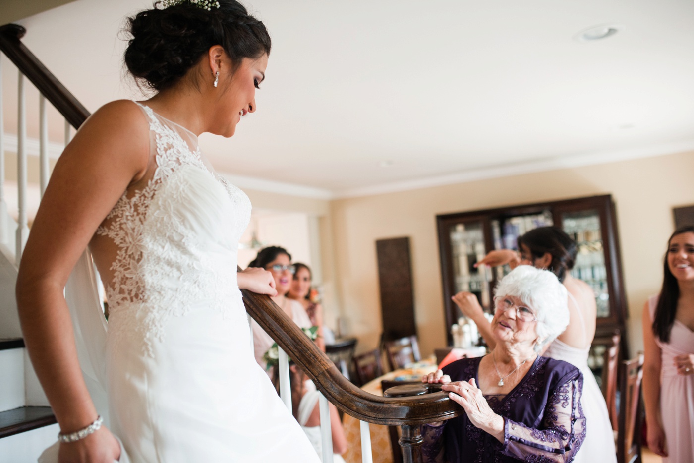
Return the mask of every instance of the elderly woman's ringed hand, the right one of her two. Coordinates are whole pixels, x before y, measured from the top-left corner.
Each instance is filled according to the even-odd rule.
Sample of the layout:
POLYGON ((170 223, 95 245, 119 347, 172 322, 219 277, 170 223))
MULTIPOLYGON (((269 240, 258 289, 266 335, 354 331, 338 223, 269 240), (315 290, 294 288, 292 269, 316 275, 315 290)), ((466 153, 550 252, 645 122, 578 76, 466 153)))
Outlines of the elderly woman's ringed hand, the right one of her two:
POLYGON ((475 378, 470 381, 449 382, 441 387, 448 391, 448 397, 464 408, 468 419, 474 426, 504 441, 504 419, 489 407, 482 389, 477 387, 475 378))

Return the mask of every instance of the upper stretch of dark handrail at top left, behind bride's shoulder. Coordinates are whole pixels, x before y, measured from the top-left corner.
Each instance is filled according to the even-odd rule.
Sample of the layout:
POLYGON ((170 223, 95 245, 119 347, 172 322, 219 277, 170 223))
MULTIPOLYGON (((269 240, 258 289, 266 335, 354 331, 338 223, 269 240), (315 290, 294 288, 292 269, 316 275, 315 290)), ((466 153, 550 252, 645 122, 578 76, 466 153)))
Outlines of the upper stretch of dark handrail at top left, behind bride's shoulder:
POLYGON ((0 26, 0 50, 17 69, 35 85, 71 126, 79 128, 90 112, 51 74, 42 62, 22 43, 26 29, 18 24, 0 26))

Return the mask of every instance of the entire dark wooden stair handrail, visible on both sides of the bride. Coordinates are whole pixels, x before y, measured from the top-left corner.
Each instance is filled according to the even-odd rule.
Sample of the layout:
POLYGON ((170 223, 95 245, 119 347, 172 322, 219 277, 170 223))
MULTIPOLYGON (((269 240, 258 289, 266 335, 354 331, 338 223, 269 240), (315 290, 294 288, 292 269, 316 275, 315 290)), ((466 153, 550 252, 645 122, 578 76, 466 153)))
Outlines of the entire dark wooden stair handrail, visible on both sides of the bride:
MULTIPOLYGON (((15 63, 37 89, 74 128, 90 112, 51 74, 20 40, 26 29, 17 24, 0 26, 0 50, 15 63)), ((243 291, 246 311, 276 340, 289 357, 314 380, 316 387, 340 410, 362 421, 408 426, 450 419, 463 413, 443 392, 414 397, 381 397, 368 394, 346 380, 337 367, 268 296, 243 291)))

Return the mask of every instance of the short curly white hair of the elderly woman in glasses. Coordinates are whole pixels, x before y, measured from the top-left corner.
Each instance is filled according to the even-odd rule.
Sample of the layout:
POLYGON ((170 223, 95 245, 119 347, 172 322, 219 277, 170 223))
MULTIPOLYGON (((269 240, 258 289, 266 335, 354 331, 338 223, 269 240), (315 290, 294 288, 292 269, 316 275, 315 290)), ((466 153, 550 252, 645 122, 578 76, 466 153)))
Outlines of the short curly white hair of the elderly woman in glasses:
POLYGON ((557 276, 549 270, 519 265, 496 286, 494 301, 514 296, 527 305, 537 319, 539 337, 535 350, 552 342, 568 326, 568 294, 557 276))

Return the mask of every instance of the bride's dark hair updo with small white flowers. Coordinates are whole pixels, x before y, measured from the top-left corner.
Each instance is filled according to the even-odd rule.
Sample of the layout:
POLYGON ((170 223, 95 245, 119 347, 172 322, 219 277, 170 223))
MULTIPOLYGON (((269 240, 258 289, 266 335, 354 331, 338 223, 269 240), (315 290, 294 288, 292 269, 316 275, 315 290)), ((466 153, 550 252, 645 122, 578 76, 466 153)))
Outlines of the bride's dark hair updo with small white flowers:
POLYGON ((262 22, 235 0, 218 3, 208 11, 189 0, 168 8, 158 8, 157 1, 128 18, 124 61, 140 85, 157 92, 175 85, 214 45, 223 47, 234 71, 244 58, 270 54, 262 22))

